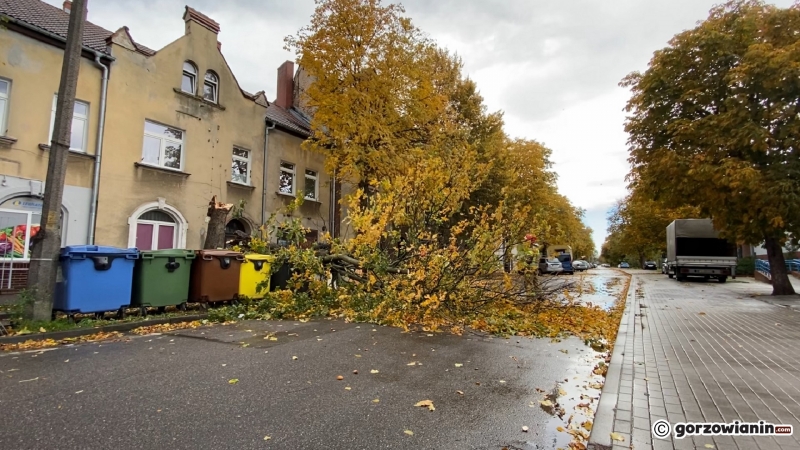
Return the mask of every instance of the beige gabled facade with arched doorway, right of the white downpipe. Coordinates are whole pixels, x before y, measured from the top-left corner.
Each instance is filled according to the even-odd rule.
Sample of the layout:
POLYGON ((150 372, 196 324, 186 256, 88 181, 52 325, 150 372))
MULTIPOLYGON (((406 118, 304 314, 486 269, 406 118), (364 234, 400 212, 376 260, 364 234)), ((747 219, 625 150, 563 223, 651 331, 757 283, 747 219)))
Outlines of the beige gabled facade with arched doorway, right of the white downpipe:
MULTIPOLYGON (((218 48, 215 23, 191 9, 184 19, 184 36, 152 55, 137 51, 126 29, 110 39, 116 61, 100 172, 99 244, 147 247, 144 235, 154 230, 151 246, 201 248, 206 208, 214 195, 223 202, 245 202, 240 221, 245 232, 262 223, 270 106, 263 93, 251 95, 238 86, 218 48), (185 63, 191 64, 187 75, 194 72, 193 83, 184 80, 185 63), (204 98, 206 74, 216 78, 216 94, 205 94, 210 99, 204 98), (153 124, 147 126, 151 129, 146 123, 153 124), (158 136, 157 126, 168 127, 164 131, 172 134, 170 139, 158 136), (157 155, 158 140, 162 148, 157 155), (177 156, 165 150, 170 146, 179 149, 173 151, 177 156), (234 152, 235 164, 247 167, 244 175, 232 173, 234 152), (153 223, 158 217, 174 222, 153 223)), ((280 124, 269 131, 266 215, 282 207, 285 198, 291 201, 291 195, 278 194, 278 182, 281 162, 292 164, 295 192, 305 187, 306 170, 316 174, 315 200, 307 200, 300 213, 306 227, 321 232, 328 222, 328 179, 324 160, 300 148, 304 137, 280 124)))

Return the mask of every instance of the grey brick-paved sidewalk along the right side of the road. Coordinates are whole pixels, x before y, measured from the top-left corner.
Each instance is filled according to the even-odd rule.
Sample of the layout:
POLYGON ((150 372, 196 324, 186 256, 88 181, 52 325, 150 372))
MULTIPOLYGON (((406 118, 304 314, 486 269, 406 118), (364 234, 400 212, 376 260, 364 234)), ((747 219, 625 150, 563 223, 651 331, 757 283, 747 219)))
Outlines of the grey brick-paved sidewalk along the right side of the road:
POLYGON ((769 292, 752 281, 635 274, 590 439, 595 448, 800 449, 800 312, 750 297, 769 292), (659 419, 764 420, 793 425, 794 435, 661 440, 650 430, 659 419), (611 441, 611 429, 624 442, 611 441))

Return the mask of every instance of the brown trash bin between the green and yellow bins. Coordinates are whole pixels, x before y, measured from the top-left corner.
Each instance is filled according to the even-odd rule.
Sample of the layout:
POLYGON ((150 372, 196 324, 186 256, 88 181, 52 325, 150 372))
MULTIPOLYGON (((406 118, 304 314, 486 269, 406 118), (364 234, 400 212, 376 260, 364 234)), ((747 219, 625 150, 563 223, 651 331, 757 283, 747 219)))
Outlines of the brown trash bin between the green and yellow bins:
POLYGON ((230 250, 197 250, 192 262, 189 301, 213 303, 236 300, 244 255, 230 250))

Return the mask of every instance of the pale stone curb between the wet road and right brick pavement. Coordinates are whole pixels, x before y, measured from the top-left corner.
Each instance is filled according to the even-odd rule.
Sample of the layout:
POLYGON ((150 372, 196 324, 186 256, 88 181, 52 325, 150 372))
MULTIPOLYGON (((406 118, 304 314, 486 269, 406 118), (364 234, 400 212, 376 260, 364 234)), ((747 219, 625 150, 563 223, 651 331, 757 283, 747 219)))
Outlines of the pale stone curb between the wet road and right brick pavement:
POLYGON ((608 364, 606 381, 600 393, 600 402, 597 405, 592 432, 589 435, 588 450, 610 450, 613 445, 611 432, 614 431, 614 416, 616 415, 617 399, 619 398, 625 343, 628 339, 628 333, 631 333, 631 339, 633 339, 632 334, 634 332, 634 328, 629 326, 628 322, 633 317, 633 304, 636 298, 635 275, 631 275, 629 283, 625 309, 622 312, 617 338, 614 341, 614 351, 611 354, 611 362, 608 364))

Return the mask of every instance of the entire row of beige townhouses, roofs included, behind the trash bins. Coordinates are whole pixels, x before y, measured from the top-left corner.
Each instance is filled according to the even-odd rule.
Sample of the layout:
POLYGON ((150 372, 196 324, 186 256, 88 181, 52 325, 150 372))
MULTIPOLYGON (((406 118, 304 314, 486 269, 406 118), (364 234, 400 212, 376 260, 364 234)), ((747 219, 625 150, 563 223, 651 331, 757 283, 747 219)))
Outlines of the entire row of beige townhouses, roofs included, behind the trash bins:
MULTIPOLYGON (((23 217, 14 216, 16 209, 28 214, 25 225, 38 220, 37 201, 41 210, 67 6, 39 0, 0 4, 7 25, 0 27, 0 230, 23 217)), ((215 195, 244 204, 231 230, 257 232, 263 217, 298 193, 306 201, 295 216, 312 236, 330 230, 330 177, 324 157, 301 148, 309 119, 293 106, 294 80, 302 74, 295 76, 290 62, 280 66, 275 102, 263 91, 243 91, 221 52, 219 24, 192 8, 183 12, 184 35, 160 50, 135 42, 125 27, 112 33, 86 24, 64 245, 201 248, 215 195), (95 59, 109 67, 102 139, 103 70, 95 59)), ((3 282, 0 274, 0 289, 3 282)))

